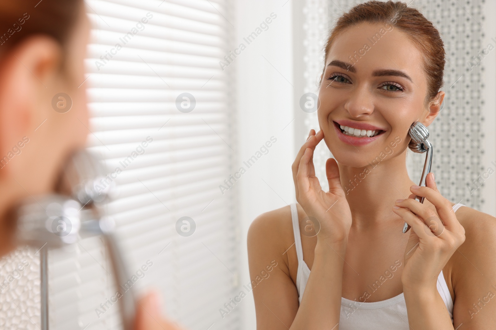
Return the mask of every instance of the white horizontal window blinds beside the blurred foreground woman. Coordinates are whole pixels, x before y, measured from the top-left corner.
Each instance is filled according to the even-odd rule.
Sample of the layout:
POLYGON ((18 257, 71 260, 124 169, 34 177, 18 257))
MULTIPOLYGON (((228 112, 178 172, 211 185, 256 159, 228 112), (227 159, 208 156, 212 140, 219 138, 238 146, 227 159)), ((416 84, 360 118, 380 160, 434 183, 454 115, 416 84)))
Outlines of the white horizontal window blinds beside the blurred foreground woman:
MULTIPOLYGON (((219 66, 229 48, 229 3, 85 2, 94 27, 84 83, 89 148, 111 173, 102 187, 118 186, 107 211, 130 276, 147 268, 133 288, 159 289, 164 311, 187 329, 237 329, 238 311, 219 313, 238 285, 233 197, 219 189, 235 148, 230 77, 219 66), (181 106, 187 98, 176 102, 182 93, 194 97, 190 112, 181 106), (178 234, 181 217, 193 219, 193 235, 178 234)), ((117 304, 100 306, 116 290, 99 238, 53 253, 51 263, 60 265, 51 268, 54 329, 120 328, 117 304)))

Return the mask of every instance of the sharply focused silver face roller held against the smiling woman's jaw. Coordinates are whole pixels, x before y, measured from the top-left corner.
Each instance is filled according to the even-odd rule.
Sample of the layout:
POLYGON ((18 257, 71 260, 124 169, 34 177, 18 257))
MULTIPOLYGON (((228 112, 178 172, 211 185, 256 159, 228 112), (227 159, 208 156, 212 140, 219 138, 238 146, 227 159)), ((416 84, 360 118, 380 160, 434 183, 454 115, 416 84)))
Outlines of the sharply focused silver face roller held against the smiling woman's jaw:
MULTIPOLYGON (((423 187, 426 186, 427 174, 431 172, 431 165, 433 162, 433 145, 431 144, 431 142, 429 142, 429 140, 427 140, 429 138, 429 131, 427 130, 427 127, 425 127, 424 124, 422 124, 421 122, 413 123, 412 126, 410 126, 408 134, 412 139, 408 144, 410 150, 417 153, 424 153, 427 151, 426 161, 424 163, 424 170, 422 171, 422 176, 420 178, 419 184, 420 187, 423 187)), ((421 203, 424 203, 424 197, 415 196, 415 199, 417 199, 421 203)), ((403 233, 408 232, 410 228, 410 225, 405 222, 405 224, 403 225, 403 233)))

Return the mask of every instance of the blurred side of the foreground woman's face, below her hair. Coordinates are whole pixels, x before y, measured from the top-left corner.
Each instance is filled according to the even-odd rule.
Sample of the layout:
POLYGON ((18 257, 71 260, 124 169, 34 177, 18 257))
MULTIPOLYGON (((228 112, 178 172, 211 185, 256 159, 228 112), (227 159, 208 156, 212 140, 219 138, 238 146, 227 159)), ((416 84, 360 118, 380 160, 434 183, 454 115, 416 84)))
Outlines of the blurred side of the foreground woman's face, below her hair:
MULTIPOLYGON (((12 58, 13 63, 17 64, 12 70, 18 68, 19 71, 14 71, 10 76, 15 79, 24 74, 31 78, 24 83, 29 91, 24 94, 33 96, 25 97, 25 102, 11 102, 12 107, 18 109, 18 114, 7 115, 12 117, 6 119, 12 123, 25 122, 26 126, 19 125, 17 130, 12 131, 12 141, 6 145, 15 145, 23 136, 29 142, 22 148, 22 154, 12 158, 8 166, 1 170, 7 178, 6 171, 9 171, 11 177, 30 194, 52 192, 66 158, 75 149, 85 146, 90 133, 86 106, 88 82, 85 82, 84 68, 89 29, 90 24, 81 5, 78 20, 71 27, 72 31, 63 48, 53 46, 55 41, 35 37, 34 40, 26 40, 19 49, 12 50, 26 66, 35 63, 32 64, 34 69, 29 70, 33 72, 31 74, 16 62, 15 57, 12 58), (54 52, 54 49, 58 50, 54 52), (61 56, 64 64, 59 69, 61 56), (43 69, 37 69, 40 67, 43 69), (35 76, 36 79, 33 78, 35 76), (21 114, 27 119, 19 119, 21 114)), ((8 95, 7 89, 2 89, 2 95, 8 95)), ((7 95, 2 98, 8 100, 13 97, 7 95)))

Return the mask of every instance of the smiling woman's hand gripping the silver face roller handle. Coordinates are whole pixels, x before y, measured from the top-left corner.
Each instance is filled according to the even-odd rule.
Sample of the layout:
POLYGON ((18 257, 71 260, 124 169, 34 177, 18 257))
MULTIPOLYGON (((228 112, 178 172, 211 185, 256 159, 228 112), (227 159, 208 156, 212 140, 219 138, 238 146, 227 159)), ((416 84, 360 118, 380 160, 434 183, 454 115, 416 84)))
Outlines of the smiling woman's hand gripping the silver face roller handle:
POLYGON ((408 199, 398 200, 393 211, 412 228, 405 249, 403 286, 410 288, 434 285, 441 270, 455 250, 465 241, 465 229, 458 222, 449 200, 437 190, 434 173, 426 178, 427 187, 412 186, 408 199), (415 199, 425 197, 437 211, 415 199), (399 208, 396 208, 399 207, 399 208), (440 218, 440 219, 439 219, 440 218))

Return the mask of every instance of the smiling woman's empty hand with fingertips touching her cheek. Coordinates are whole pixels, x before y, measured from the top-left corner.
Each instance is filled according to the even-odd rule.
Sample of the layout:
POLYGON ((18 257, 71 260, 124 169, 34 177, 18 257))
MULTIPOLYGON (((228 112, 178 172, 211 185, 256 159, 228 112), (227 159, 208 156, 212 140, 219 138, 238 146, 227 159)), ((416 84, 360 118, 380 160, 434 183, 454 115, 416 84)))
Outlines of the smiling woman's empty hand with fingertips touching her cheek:
POLYGON ((317 241, 342 242, 348 239, 352 221, 350 206, 341 186, 337 162, 334 158, 329 158, 325 163, 328 192, 321 189, 313 166, 313 152, 323 137, 322 130, 317 134, 314 130, 310 130, 308 140, 301 147, 291 167, 296 200, 308 217, 318 221, 320 229, 317 233, 317 241))

